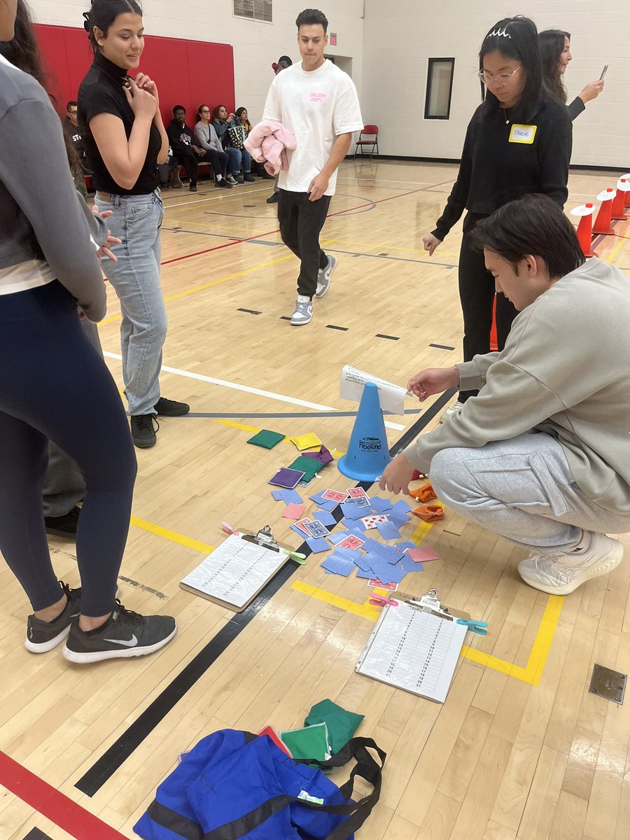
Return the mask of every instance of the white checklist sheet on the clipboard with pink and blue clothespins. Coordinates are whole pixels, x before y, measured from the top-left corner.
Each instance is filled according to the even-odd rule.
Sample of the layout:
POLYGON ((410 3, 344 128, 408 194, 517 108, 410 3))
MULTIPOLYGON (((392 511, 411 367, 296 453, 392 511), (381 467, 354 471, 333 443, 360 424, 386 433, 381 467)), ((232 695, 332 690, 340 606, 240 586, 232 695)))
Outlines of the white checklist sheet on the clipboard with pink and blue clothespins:
POLYGON ((466 627, 399 601, 376 624, 356 666, 358 674, 444 703, 466 627))

